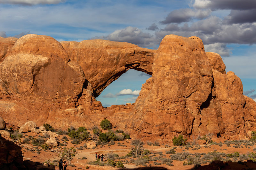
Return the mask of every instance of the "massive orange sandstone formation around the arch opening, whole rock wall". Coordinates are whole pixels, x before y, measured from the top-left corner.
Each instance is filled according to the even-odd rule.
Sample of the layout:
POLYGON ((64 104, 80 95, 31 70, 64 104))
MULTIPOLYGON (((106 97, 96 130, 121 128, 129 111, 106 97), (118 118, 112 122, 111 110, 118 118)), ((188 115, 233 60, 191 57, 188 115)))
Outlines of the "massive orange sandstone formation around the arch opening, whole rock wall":
POLYGON ((233 72, 226 74, 220 55, 204 52, 198 37, 166 35, 151 50, 28 34, 7 51, 0 56, 0 116, 7 123, 31 120, 60 129, 98 126, 108 118, 133 136, 164 142, 178 134, 244 139, 255 130, 256 103, 243 96, 233 72), (129 69, 152 75, 136 103, 103 108, 95 98, 129 69))

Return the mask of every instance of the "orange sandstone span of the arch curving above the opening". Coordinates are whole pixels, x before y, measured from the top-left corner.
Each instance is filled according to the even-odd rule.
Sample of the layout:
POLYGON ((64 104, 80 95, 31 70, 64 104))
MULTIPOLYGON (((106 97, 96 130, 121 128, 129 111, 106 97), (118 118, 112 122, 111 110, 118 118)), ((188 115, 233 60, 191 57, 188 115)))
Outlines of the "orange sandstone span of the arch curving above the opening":
POLYGON ((85 78, 91 83, 95 98, 129 69, 152 75, 156 50, 140 48, 127 42, 107 40, 60 43, 68 52, 70 59, 77 62, 84 70, 85 78))

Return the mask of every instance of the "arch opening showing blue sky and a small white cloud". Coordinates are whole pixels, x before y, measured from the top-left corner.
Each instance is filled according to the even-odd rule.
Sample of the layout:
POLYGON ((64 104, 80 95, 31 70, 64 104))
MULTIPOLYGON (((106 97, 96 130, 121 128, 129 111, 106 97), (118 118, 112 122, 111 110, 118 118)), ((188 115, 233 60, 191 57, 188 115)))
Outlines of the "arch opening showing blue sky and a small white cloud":
POLYGON ((106 87, 96 98, 103 107, 134 103, 138 98, 141 86, 151 75, 130 69, 106 87))

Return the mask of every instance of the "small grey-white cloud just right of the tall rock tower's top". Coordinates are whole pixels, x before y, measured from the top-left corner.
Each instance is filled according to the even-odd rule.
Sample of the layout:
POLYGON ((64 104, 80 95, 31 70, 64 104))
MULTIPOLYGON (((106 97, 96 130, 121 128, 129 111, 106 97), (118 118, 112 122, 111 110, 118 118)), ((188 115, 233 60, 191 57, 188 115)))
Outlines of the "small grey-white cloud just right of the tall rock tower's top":
POLYGON ((204 45, 204 51, 218 53, 220 56, 226 57, 230 56, 229 54, 231 53, 230 49, 227 47, 226 44, 218 42, 204 45))

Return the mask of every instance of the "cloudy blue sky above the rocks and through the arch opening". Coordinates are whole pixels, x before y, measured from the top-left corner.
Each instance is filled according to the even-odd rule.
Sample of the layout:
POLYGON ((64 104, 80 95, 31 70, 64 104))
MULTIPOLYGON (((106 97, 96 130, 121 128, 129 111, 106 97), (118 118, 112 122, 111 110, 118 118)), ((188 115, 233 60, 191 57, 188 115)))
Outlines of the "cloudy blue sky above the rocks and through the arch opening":
MULTIPOLYGON (((176 34, 202 39, 256 101, 256 0, 0 0, 0 36, 28 33, 58 41, 105 39, 157 49, 176 34)), ((133 103, 150 76, 129 70, 97 97, 103 106, 133 103)))

